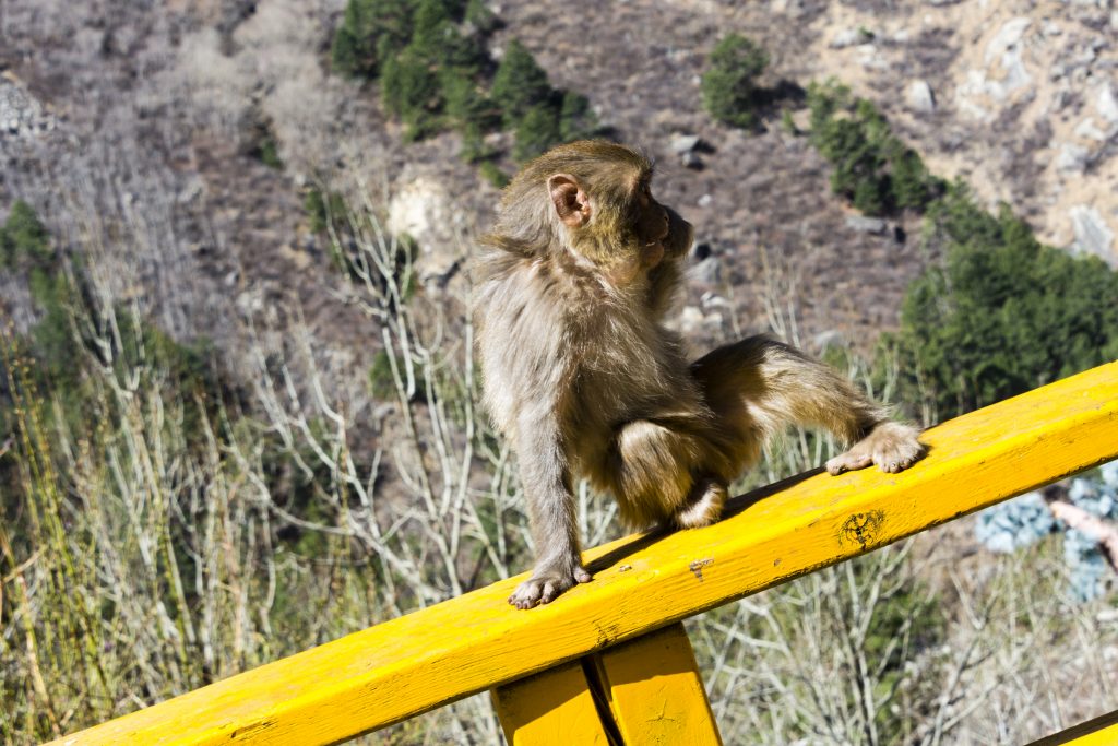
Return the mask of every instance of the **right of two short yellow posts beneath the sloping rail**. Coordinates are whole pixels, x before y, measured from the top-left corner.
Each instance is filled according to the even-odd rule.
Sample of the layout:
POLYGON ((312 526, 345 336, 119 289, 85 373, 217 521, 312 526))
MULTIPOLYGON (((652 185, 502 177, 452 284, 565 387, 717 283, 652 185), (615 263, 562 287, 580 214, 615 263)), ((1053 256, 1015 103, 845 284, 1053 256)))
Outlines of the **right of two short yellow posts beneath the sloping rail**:
POLYGON ((593 658, 625 744, 722 746, 682 623, 593 658))

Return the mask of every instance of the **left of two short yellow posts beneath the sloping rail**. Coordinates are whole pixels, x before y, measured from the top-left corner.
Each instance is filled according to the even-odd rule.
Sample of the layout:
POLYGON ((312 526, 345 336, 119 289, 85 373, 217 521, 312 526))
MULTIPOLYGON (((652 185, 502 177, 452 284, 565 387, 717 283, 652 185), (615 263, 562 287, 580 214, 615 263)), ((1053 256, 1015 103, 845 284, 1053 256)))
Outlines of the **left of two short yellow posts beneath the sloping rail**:
POLYGON ((512 746, 610 746, 579 661, 499 687, 492 696, 512 746))

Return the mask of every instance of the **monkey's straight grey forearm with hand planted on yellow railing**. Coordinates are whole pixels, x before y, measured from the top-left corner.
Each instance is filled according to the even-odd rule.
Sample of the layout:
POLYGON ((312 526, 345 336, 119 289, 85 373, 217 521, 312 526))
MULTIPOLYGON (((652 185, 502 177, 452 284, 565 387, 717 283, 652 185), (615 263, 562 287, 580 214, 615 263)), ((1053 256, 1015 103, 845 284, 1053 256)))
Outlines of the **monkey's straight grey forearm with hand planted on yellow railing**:
POLYGON ((536 541, 532 576, 509 596, 517 608, 547 604, 576 583, 589 583, 578 547, 570 471, 550 416, 518 423, 517 455, 536 541))

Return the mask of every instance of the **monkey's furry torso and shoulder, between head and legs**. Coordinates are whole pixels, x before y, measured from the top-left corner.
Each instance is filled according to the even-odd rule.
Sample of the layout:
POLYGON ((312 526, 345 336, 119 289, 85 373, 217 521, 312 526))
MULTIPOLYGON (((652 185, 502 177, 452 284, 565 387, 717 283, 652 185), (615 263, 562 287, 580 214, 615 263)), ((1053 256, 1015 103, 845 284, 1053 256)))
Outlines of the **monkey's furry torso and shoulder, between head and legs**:
POLYGON ((571 434, 570 461, 593 472, 623 423, 705 417, 679 339, 639 287, 623 294, 575 261, 501 249, 483 257, 480 275, 485 404, 505 435, 525 416, 555 416, 571 434))

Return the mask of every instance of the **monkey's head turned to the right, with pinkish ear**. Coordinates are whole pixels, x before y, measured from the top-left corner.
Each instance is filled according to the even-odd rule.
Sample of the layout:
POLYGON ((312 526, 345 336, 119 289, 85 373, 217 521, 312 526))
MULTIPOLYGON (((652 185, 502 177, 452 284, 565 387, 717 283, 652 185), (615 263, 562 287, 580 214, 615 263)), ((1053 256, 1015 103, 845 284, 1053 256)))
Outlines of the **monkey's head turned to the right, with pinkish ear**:
POLYGON ((627 284, 691 247, 691 225, 652 196, 652 173, 648 159, 624 145, 559 145, 505 188, 489 243, 537 256, 571 252, 627 284))

